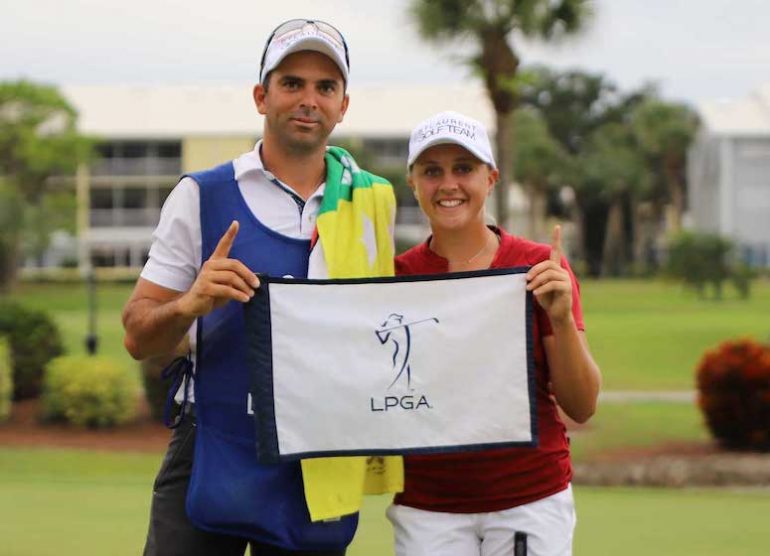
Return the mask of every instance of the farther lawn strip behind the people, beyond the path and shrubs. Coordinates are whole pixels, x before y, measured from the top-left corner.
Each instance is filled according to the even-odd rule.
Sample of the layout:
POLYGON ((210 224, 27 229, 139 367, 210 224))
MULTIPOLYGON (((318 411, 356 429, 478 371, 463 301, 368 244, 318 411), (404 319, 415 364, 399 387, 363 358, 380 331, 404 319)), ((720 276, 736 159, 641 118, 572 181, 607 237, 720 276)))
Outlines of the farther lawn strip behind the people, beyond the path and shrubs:
MULTIPOLYGON (((100 352, 133 364, 123 349, 120 311, 131 285, 99 284, 100 352)), ((658 280, 585 281, 583 306, 591 350, 606 390, 685 390, 693 387, 703 352, 742 336, 770 338, 770 282, 757 281, 749 300, 728 289, 723 301, 700 300, 658 280)), ((86 289, 78 284, 23 284, 25 305, 54 314, 71 353, 84 351, 86 289)))

